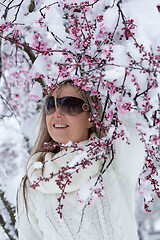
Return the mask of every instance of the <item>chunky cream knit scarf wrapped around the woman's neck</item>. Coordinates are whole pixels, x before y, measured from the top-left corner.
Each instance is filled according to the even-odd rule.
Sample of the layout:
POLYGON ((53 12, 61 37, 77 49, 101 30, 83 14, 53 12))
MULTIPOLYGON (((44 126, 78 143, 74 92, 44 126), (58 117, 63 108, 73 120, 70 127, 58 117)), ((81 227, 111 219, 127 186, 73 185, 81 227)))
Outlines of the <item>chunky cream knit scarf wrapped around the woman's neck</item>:
POLYGON ((61 183, 66 184, 66 174, 65 176, 63 174, 61 175, 64 171, 64 173, 68 173, 69 180, 71 180, 70 184, 66 184, 65 192, 70 193, 78 191, 85 182, 98 175, 102 165, 101 161, 96 161, 95 159, 90 160, 88 157, 90 151, 88 144, 91 142, 91 140, 80 142, 78 147, 81 147, 83 150, 74 151, 74 148, 69 147, 57 154, 48 152, 43 157, 43 163, 39 160, 42 158, 43 153, 35 153, 27 165, 27 175, 30 183, 33 185, 38 182, 39 186, 37 186, 36 189, 42 193, 60 194, 62 190, 58 186, 57 181, 61 180, 61 183), (81 160, 84 158, 86 161, 91 161, 92 164, 89 163, 89 165, 85 165, 85 168, 79 164, 75 169, 74 166, 77 163, 81 163, 81 160), (66 170, 68 165, 73 168, 66 170), (76 170, 78 170, 78 173, 76 170), (62 179, 58 176, 62 176, 62 179))

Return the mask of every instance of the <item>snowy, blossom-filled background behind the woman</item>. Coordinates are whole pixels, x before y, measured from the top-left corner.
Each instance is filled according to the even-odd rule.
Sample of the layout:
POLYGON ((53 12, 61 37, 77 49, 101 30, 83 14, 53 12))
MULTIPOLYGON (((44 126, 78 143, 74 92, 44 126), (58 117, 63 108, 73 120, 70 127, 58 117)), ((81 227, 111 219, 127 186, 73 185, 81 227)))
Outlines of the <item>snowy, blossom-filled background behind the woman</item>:
MULTIPOLYGON (((103 21, 97 21, 95 30, 84 30, 93 31, 92 40, 95 40, 87 39, 88 42, 82 41, 80 35, 75 34, 75 29, 71 28, 73 19, 69 22, 69 16, 73 9, 63 9, 65 3, 73 6, 71 3, 81 4, 81 1, 62 0, 58 3, 59 6, 56 1, 51 0, 0 0, 0 217, 3 217, 3 221, 0 218, 1 240, 17 239, 16 224, 10 224, 7 206, 16 206, 16 192, 25 174, 26 162, 37 135, 37 122, 43 102, 42 88, 54 87, 55 79, 60 76, 71 77, 76 83, 85 80, 84 87, 94 91, 92 81, 80 78, 80 70, 75 74, 77 53, 83 56, 85 63, 90 64, 91 58, 94 59, 95 65, 91 70, 96 80, 101 73, 104 74, 102 81, 107 79, 105 86, 109 89, 111 102, 115 104, 108 107, 106 115, 112 119, 115 109, 126 113, 132 110, 132 107, 136 108, 141 113, 144 112, 145 130, 142 129, 142 132, 146 134, 146 141, 149 141, 150 136, 159 136, 157 119, 160 106, 160 1, 100 0, 89 1, 90 5, 86 2, 88 21, 93 22, 97 16, 103 15, 103 21), (123 19, 121 11, 126 19, 123 19), (131 19, 134 20, 133 23, 130 22, 131 19), (126 21, 126 25, 123 21, 126 21), (125 27, 131 32, 126 33, 125 27), (133 35, 130 34, 132 32, 133 35), (113 39, 109 37, 111 33, 114 35, 113 39), (103 41, 106 39, 109 39, 109 42, 105 45, 103 41), (68 51, 66 55, 63 54, 64 49, 68 51), (101 50, 100 55, 96 55, 98 50, 101 50), (103 62, 106 65, 96 68, 102 65, 102 59, 105 59, 103 62), (129 62, 132 70, 128 68, 129 62), (122 85, 123 89, 120 89, 119 86, 122 85), (120 90, 126 94, 119 101, 122 95, 120 90), (141 98, 140 93, 143 92, 147 93, 145 98, 141 98), (126 103, 127 110, 124 108, 126 103), (8 204, 4 204, 4 199, 8 204), (4 228, 10 229, 13 238, 4 233, 4 228)), ((76 30, 78 31, 78 27, 76 30)), ((90 68, 84 68, 88 75, 91 74, 90 68)), ((100 93, 105 97, 106 89, 101 87, 100 93)), ((106 124, 109 124, 109 121, 106 124)), ((156 154, 157 142, 155 138, 150 142, 153 153, 156 154)), ((159 163, 155 161, 154 164, 160 173, 159 163)), ((142 176, 142 180, 144 178, 142 176)), ((155 178, 159 181, 159 175, 155 178)), ((144 181, 140 189, 142 194, 139 194, 138 190, 136 194, 138 231, 140 240, 159 240, 160 200, 155 197, 156 194, 152 196, 149 184, 148 181, 144 181), (144 196, 148 201, 152 197, 155 198, 150 204, 152 211, 149 213, 144 211, 144 196)))

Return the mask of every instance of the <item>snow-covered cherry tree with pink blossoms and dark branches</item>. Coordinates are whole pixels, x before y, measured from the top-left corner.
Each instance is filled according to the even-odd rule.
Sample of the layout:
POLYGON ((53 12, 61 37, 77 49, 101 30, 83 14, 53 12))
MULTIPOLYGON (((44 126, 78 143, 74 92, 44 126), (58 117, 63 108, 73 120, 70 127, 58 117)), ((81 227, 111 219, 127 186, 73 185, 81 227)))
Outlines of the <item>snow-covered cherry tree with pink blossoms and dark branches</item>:
MULTIPOLYGON (((97 95, 102 102, 103 114, 97 116, 98 105, 91 118, 100 132, 107 137, 94 143, 87 158, 74 166, 62 169, 58 186, 62 190, 57 211, 61 216, 65 186, 71 182, 71 171, 92 164, 98 157, 107 161, 106 152, 114 158, 112 144, 120 138, 129 144, 129 135, 120 115, 135 123, 145 145, 145 163, 138 180, 138 190, 144 208, 151 211, 154 199, 159 200, 159 147, 160 147, 160 22, 159 1, 149 0, 1 0, 0 1, 0 99, 2 123, 14 119, 23 144, 19 152, 17 142, 2 141, 2 159, 28 156, 31 148, 23 126, 39 112, 44 94, 56 89, 64 79, 97 95), (134 118, 136 112, 138 118, 134 118), (22 140, 23 139, 23 140, 22 140), (6 147, 7 146, 7 147, 6 147), (15 150, 16 149, 16 150, 15 150), (101 155, 97 156, 97 152, 101 155), (14 152, 14 154, 13 154, 14 152), (8 155, 7 155, 8 154, 8 155), (63 182, 64 179, 67 181, 63 182)), ((50 146, 46 143, 46 147, 50 146)), ((76 148, 76 146, 73 146, 76 148)), ((84 154, 85 155, 85 154, 84 154)), ((108 163, 109 167, 111 161, 108 163)), ((17 161, 15 163, 17 165, 17 161)), ((5 179, 16 170, 1 163, 5 179), (8 172, 7 172, 8 171, 8 172)), ((106 169, 101 169, 103 174, 106 169)), ((39 179, 33 187, 37 187, 39 179)), ((1 186, 1 182, 0 182, 1 186)), ((98 177, 88 196, 101 196, 103 186, 98 177)), ((4 189, 4 190, 3 190, 4 189)), ((12 212, 4 198, 0 199, 7 214, 12 212), (5 201, 7 205, 5 205, 5 201)), ((3 213, 0 215, 3 217, 3 213)), ((6 216, 6 215, 5 215, 6 216)), ((9 239, 16 239, 0 221, 9 239)))

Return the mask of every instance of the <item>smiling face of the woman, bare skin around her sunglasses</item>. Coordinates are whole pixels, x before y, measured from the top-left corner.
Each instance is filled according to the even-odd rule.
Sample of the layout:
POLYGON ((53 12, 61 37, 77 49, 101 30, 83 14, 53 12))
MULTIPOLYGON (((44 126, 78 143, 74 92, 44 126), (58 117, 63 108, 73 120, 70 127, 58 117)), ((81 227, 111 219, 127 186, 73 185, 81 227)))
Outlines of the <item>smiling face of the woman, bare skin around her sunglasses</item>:
MULTIPOLYGON (((71 85, 63 86, 57 97, 65 96, 81 98, 80 94, 71 85)), ((76 116, 67 115, 63 113, 58 104, 56 111, 46 115, 47 130, 51 138, 58 143, 80 142, 88 139, 89 128, 93 126, 93 122, 90 122, 88 118, 88 112, 82 112, 76 116)))

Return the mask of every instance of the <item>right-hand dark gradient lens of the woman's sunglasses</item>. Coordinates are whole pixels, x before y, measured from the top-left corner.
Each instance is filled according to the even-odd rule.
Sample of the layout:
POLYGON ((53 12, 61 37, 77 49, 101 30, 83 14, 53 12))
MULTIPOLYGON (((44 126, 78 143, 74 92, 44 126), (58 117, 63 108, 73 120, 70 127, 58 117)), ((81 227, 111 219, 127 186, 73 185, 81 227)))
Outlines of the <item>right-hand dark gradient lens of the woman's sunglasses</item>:
POLYGON ((61 102, 61 107, 64 113, 68 115, 77 115, 78 113, 83 112, 82 105, 84 101, 80 98, 75 97, 66 97, 61 102))

